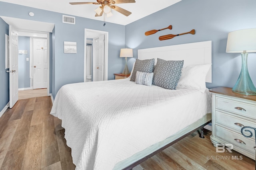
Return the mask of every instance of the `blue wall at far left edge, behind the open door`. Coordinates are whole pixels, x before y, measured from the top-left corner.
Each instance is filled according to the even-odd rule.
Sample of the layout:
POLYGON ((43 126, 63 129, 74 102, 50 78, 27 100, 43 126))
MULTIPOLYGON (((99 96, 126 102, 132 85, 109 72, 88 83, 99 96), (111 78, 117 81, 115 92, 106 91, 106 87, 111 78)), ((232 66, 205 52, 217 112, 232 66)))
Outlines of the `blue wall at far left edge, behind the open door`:
POLYGON ((5 69, 5 34, 9 35, 9 25, 0 18, 0 111, 9 102, 9 73, 5 69))

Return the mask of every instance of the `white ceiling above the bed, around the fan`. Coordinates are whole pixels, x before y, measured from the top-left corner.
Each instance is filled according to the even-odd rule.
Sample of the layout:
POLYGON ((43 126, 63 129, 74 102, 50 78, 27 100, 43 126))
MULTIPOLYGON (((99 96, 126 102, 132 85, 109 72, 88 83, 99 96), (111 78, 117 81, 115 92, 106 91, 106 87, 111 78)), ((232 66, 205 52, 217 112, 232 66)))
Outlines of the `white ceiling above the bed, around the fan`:
MULTIPOLYGON (((53 12, 59 12, 68 15, 80 16, 84 18, 90 18, 94 20, 103 21, 104 17, 95 17, 94 9, 99 5, 84 4, 84 5, 70 5, 69 2, 97 2, 96 0, 1 0, 3 2, 9 2, 12 4, 19 4, 23 6, 30 6, 33 8, 39 8, 42 10, 48 10, 53 12)), ((172 4, 180 2, 181 0, 136 0, 136 3, 116 4, 125 10, 132 12, 128 17, 112 10, 113 16, 107 18, 107 22, 117 23, 121 25, 127 25, 133 21, 139 20, 145 16, 148 16, 154 12, 162 10, 172 4)), ((34 12, 34 11, 31 11, 34 12)), ((36 12, 34 12, 36 16, 36 12)))

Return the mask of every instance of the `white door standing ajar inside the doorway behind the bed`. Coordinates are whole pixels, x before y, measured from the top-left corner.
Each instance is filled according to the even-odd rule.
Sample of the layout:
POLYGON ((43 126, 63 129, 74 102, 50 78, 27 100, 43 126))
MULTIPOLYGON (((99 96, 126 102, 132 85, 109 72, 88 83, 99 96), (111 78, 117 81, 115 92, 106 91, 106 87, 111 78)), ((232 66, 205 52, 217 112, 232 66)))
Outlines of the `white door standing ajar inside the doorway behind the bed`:
POLYGON ((104 80, 104 34, 92 39, 93 81, 104 80))

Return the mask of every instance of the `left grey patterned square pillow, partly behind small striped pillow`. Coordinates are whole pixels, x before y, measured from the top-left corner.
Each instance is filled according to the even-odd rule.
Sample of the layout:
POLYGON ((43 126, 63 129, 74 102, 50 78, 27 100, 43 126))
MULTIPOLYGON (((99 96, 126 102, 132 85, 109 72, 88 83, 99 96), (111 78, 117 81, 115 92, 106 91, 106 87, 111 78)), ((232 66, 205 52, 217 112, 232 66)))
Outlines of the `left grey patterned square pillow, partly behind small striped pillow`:
POLYGON ((155 59, 147 59, 147 60, 136 59, 130 81, 135 82, 137 71, 153 72, 154 63, 155 63, 155 59))

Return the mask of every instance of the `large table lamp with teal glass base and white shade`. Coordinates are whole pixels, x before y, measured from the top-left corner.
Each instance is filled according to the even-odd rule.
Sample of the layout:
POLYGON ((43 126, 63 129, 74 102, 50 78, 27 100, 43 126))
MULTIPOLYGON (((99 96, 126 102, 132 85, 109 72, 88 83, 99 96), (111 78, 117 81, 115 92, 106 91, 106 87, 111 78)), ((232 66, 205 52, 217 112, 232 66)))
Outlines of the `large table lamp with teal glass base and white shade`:
POLYGON ((250 78, 247 68, 248 53, 256 52, 256 28, 241 29, 228 33, 226 53, 241 53, 242 69, 233 92, 256 95, 256 88, 250 78))

